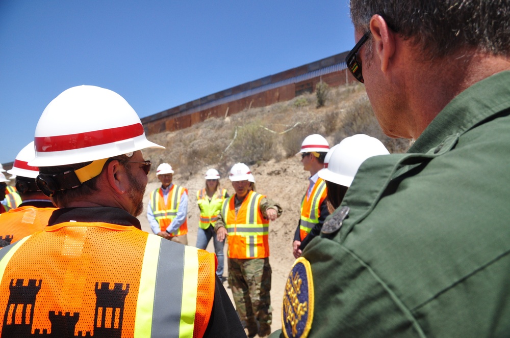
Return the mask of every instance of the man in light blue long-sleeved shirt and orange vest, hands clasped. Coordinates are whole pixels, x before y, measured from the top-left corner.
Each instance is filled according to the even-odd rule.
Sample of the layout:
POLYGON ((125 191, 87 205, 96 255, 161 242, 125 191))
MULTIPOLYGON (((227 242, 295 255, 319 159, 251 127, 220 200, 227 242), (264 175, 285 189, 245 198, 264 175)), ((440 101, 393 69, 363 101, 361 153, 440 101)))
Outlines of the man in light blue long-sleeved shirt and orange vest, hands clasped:
POLYGON ((188 189, 175 185, 173 169, 161 163, 156 169, 161 187, 150 192, 147 219, 156 235, 188 245, 188 189))

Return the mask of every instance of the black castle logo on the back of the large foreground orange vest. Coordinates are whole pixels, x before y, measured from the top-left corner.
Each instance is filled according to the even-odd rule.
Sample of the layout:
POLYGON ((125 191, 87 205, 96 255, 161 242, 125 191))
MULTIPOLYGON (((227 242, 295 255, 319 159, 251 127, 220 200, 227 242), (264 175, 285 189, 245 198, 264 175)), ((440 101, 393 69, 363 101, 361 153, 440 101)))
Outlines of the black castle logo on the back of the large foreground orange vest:
POLYGON ((122 320, 124 315, 124 301, 129 293, 129 284, 122 288, 121 283, 115 283, 113 290, 110 290, 110 283, 95 284, 96 305, 94 314, 93 332, 78 331, 74 335, 74 329, 80 313, 72 315, 69 312, 50 311, 49 321, 52 323, 51 333, 47 329, 34 329, 32 334, 32 322, 34 319, 34 307, 37 293, 41 290, 42 279, 29 279, 27 286, 23 286, 23 279, 11 279, 9 285, 9 301, 5 309, 2 338, 7 337, 40 337, 40 338, 68 338, 68 337, 91 337, 94 338, 121 338, 122 320), (107 322, 107 312, 111 309, 111 319, 107 322), (84 334, 85 333, 85 334, 84 334))

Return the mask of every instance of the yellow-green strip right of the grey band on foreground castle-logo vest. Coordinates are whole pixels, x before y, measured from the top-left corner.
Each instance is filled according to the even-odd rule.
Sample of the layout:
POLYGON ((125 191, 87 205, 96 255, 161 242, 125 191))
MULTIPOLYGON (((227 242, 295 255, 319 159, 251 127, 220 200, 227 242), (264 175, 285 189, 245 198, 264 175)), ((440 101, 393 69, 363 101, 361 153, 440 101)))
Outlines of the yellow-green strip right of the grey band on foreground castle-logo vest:
POLYGON ((196 248, 186 246, 184 250, 184 283, 183 301, 181 305, 181 323, 179 336, 192 337, 195 324, 196 301, 186 301, 197 297, 198 288, 198 252, 196 248))

